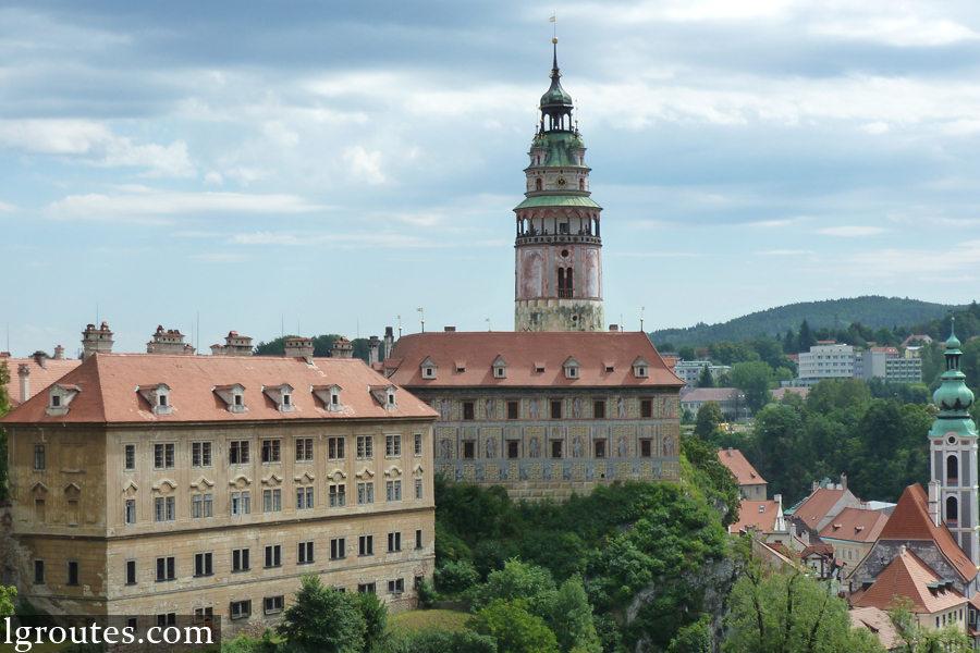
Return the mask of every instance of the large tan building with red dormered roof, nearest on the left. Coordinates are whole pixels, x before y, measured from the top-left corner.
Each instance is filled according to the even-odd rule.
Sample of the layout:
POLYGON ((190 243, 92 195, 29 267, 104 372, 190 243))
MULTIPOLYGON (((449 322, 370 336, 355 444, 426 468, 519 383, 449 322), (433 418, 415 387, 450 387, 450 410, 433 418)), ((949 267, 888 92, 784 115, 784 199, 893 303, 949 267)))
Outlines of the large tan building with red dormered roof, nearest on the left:
POLYGON ((355 359, 93 354, 0 420, 19 597, 234 631, 314 572, 409 607, 436 417, 355 359))

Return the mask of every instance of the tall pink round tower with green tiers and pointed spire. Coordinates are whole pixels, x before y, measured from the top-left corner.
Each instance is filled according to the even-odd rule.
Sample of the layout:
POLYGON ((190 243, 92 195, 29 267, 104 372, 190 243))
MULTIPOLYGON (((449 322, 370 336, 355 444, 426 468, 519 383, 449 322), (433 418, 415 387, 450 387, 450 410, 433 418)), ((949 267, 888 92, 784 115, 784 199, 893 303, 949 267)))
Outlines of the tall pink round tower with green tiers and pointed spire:
POLYGON ((558 39, 551 87, 530 148, 526 199, 517 214, 515 331, 603 331, 602 207, 589 197, 589 168, 572 98, 562 88, 558 39))

